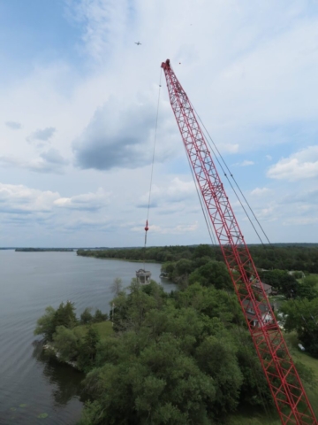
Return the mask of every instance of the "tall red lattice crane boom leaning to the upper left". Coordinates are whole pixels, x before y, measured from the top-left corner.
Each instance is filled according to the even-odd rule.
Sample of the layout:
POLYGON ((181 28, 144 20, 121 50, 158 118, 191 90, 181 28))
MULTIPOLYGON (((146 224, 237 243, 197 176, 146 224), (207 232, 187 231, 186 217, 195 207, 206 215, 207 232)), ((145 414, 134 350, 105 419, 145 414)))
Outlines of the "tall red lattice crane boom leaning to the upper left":
POLYGON ((169 59, 163 62, 162 68, 170 104, 196 182, 201 189, 209 219, 220 243, 280 419, 284 425, 318 425, 269 299, 261 283, 255 284, 261 282, 261 279, 193 112, 193 106, 173 72, 169 59))

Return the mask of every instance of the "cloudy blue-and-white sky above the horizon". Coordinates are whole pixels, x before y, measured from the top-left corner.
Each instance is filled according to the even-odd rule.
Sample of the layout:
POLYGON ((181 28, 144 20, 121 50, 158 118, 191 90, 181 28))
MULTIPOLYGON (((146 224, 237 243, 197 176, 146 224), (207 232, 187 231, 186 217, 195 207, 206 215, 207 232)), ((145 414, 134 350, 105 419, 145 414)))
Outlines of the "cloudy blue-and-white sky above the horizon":
POLYGON ((269 241, 318 243, 317 0, 0 0, 0 246, 211 242, 167 58, 269 241))

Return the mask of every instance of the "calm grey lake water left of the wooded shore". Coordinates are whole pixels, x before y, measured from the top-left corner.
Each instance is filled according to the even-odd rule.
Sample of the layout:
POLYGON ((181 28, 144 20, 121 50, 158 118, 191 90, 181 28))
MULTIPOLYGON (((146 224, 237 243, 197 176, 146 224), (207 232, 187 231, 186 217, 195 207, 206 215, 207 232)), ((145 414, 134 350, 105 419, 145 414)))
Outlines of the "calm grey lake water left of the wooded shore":
MULTIPOLYGON (((83 375, 42 358, 34 344, 36 320, 47 305, 70 299, 109 312, 110 285, 128 286, 139 263, 78 257, 76 252, 0 251, 0 424, 74 424, 83 403, 83 375), (38 418, 47 413, 46 419, 38 418)), ((161 266, 147 264, 152 278, 161 266)), ((161 282, 166 290, 174 285, 161 282)))

